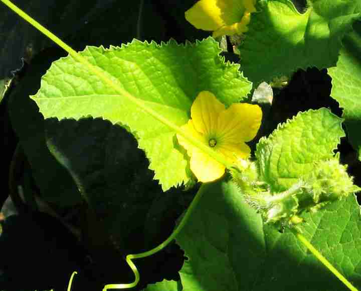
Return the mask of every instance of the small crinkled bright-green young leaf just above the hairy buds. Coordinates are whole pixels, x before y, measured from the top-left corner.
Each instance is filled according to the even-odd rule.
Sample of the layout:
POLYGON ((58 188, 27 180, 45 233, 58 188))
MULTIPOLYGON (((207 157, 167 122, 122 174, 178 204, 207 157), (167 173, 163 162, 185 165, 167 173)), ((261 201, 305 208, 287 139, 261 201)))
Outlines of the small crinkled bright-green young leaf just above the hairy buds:
POLYGON ((326 108, 309 110, 261 138, 256 157, 262 180, 272 190, 286 190, 312 171, 314 162, 331 158, 344 136, 341 121, 326 108))

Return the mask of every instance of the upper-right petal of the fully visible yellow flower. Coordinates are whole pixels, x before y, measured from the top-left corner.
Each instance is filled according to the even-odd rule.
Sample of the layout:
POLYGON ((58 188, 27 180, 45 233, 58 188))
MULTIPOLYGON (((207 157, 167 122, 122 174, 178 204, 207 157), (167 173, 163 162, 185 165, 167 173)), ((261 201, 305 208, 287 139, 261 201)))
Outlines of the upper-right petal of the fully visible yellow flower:
POLYGON ((218 116, 218 129, 222 144, 238 144, 252 140, 261 126, 262 110, 258 105, 232 104, 218 116))

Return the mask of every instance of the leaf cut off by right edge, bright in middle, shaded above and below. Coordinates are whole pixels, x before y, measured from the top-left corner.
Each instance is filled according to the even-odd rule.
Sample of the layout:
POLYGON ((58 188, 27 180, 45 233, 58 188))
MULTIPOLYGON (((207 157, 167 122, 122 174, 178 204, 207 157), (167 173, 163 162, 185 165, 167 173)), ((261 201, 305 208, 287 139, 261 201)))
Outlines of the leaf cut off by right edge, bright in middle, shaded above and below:
POLYGON ((328 69, 331 96, 343 108, 348 138, 361 154, 361 22, 344 37, 343 45, 336 67, 328 69))

